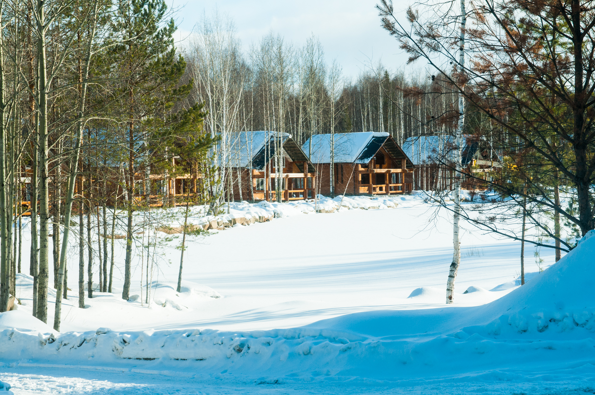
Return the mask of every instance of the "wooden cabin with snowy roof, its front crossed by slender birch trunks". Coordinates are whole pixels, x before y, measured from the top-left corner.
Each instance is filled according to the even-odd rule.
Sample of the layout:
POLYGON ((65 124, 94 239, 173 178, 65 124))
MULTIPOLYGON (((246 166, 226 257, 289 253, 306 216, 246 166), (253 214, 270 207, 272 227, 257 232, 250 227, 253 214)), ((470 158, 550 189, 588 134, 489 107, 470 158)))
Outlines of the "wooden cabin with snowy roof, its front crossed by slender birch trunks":
POLYGON ((231 177, 232 182, 226 182, 226 193, 231 184, 234 200, 277 200, 277 178, 281 182, 281 200, 314 197, 314 168, 291 134, 243 131, 231 134, 230 140, 230 166, 224 167, 222 161, 220 167, 226 177, 231 177))

